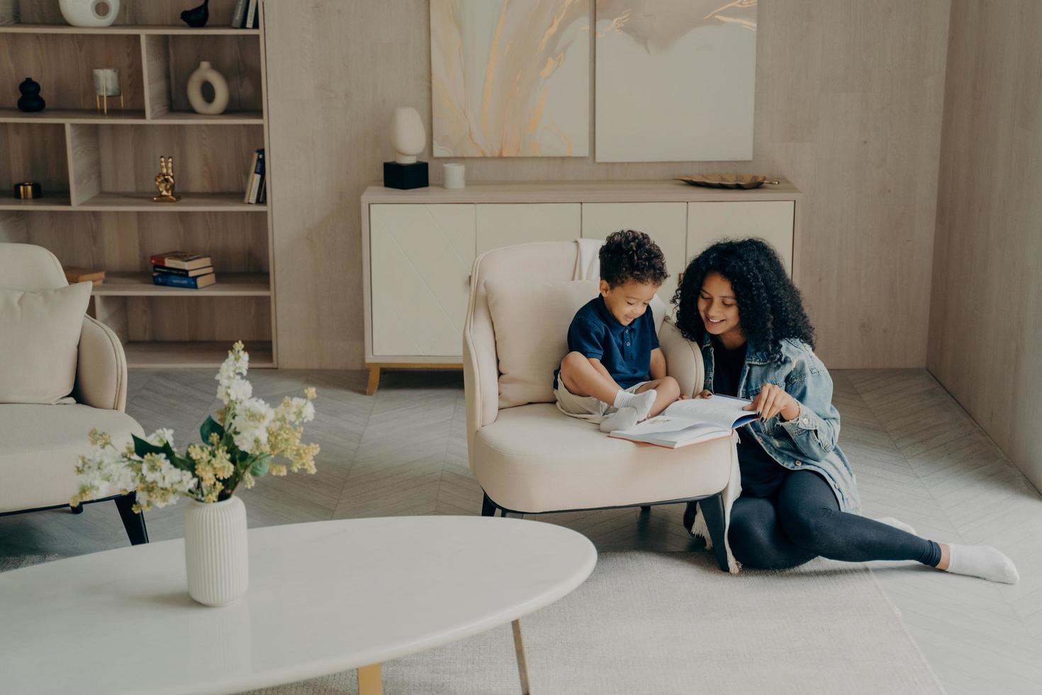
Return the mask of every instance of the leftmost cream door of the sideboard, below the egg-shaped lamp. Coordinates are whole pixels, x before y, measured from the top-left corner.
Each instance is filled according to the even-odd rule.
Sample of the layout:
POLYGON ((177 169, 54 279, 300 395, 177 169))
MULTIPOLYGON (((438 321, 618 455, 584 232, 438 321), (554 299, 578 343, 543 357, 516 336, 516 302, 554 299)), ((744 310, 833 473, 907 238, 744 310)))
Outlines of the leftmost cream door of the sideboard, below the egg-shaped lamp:
POLYGON ((373 355, 458 356, 474 206, 370 205, 373 355))

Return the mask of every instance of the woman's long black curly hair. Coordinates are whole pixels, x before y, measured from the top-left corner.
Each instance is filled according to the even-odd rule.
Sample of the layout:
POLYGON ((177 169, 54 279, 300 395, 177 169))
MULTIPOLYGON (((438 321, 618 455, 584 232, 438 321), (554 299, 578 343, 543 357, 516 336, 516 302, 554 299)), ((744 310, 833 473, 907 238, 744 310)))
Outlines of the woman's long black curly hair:
POLYGON ((777 252, 762 239, 724 240, 691 259, 673 295, 676 327, 689 341, 701 345, 705 325, 698 296, 710 273, 730 282, 750 345, 766 350, 768 359, 782 361, 782 341, 800 340, 814 347, 814 326, 803 311, 799 290, 786 273, 777 252))

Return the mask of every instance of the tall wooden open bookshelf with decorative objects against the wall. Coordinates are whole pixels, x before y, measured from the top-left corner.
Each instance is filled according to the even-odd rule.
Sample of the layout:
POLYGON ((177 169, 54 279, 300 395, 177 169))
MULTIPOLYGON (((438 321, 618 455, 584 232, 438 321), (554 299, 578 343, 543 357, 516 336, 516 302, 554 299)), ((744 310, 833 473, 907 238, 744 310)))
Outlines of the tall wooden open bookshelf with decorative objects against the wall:
MULTIPOLYGON (((191 3, 189 3, 191 4, 191 3)), ((207 26, 184 2, 123 3, 113 26, 73 27, 56 0, 21 0, 0 26, 0 241, 38 244, 66 266, 104 269, 90 312, 119 334, 130 367, 216 367, 235 340, 251 367, 276 367, 271 178, 266 204, 243 202, 253 151, 270 152, 264 1, 259 28, 229 26, 234 0, 210 0, 207 26), (189 76, 208 60, 228 81, 228 108, 194 113, 189 76), (119 68, 125 110, 95 108, 92 70, 119 68), (32 77, 47 108, 17 108, 32 77), (177 203, 154 203, 159 155, 173 155, 177 203), (44 197, 19 200, 17 181, 44 197), (217 283, 154 286, 149 256, 210 255, 217 283)), ((270 155, 269 155, 270 158, 270 155)), ((270 164, 269 164, 270 171, 270 164)))

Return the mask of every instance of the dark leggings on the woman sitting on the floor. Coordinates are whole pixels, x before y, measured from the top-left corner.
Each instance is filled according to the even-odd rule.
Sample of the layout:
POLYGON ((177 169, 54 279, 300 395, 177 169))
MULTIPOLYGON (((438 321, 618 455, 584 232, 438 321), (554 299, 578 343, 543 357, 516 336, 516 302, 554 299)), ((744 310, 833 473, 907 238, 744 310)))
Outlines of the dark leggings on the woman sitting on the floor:
POLYGON ((832 487, 810 470, 790 471, 770 497, 741 496, 730 510, 730 550, 743 565, 796 567, 823 555, 848 563, 915 560, 936 567, 941 546, 857 514, 840 512, 832 487))

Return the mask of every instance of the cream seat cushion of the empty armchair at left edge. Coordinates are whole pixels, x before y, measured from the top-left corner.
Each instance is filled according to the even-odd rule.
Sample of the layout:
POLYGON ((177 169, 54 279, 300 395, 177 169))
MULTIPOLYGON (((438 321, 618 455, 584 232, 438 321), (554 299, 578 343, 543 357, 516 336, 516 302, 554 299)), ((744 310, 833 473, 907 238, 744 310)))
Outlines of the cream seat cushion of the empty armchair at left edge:
POLYGON ((0 513, 68 502, 79 490, 74 469, 78 456, 91 450, 88 435, 93 427, 108 432, 120 449, 130 435, 145 435, 119 411, 0 404, 0 513))

